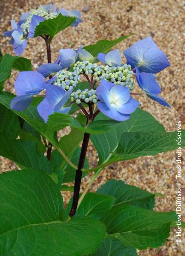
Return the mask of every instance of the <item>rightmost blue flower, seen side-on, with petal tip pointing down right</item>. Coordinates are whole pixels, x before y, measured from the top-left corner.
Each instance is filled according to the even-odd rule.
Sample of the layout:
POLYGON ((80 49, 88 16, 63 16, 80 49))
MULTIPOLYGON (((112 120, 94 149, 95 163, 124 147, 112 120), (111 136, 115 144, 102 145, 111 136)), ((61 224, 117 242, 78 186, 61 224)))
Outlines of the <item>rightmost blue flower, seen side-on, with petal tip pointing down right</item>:
POLYGON ((136 68, 136 80, 140 88, 146 92, 146 95, 150 99, 157 101, 163 106, 170 107, 170 105, 161 96, 158 95, 161 92, 161 88, 152 73, 139 73, 139 69, 136 68))

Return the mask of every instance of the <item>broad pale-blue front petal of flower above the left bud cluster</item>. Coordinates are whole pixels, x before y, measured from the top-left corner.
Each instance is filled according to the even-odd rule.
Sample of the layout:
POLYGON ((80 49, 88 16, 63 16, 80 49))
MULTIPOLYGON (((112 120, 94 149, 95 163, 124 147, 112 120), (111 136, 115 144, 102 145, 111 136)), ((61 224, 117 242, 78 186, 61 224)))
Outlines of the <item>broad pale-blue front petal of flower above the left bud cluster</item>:
POLYGON ((72 66, 76 62, 78 55, 75 50, 61 49, 60 50, 60 62, 62 69, 72 66))

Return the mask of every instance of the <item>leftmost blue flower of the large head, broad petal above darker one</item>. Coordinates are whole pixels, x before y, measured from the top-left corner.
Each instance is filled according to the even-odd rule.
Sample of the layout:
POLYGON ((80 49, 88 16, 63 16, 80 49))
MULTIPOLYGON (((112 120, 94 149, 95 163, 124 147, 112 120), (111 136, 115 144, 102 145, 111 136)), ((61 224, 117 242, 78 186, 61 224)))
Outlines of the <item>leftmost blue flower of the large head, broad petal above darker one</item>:
MULTIPOLYGON (((52 78, 53 80, 55 78, 52 78)), ((48 83, 52 81, 49 80, 48 83)), ((26 109, 33 100, 33 95, 46 88, 45 78, 35 71, 20 72, 15 81, 16 96, 11 102, 11 109, 22 111, 26 109)))

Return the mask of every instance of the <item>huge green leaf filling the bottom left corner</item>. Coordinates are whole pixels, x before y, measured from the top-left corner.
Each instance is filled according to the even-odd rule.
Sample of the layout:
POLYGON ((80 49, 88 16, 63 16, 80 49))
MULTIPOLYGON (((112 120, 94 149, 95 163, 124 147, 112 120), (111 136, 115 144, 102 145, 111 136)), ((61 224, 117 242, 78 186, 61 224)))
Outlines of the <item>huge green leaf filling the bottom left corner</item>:
POLYGON ((0 254, 81 256, 91 254, 106 229, 93 218, 62 221, 60 190, 35 169, 0 175, 0 254))

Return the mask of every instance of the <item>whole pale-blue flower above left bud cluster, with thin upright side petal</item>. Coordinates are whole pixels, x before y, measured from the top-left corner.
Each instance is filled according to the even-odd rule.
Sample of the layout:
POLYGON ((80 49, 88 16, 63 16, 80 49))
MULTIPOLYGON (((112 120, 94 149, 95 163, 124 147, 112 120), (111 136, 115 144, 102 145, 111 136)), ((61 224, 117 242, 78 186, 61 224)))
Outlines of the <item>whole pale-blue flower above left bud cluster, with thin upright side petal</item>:
POLYGON ((82 47, 81 45, 76 51, 73 49, 61 49, 55 64, 60 64, 62 69, 71 67, 77 61, 82 47))

